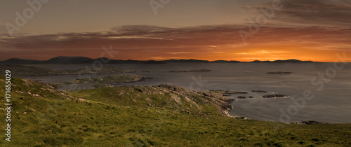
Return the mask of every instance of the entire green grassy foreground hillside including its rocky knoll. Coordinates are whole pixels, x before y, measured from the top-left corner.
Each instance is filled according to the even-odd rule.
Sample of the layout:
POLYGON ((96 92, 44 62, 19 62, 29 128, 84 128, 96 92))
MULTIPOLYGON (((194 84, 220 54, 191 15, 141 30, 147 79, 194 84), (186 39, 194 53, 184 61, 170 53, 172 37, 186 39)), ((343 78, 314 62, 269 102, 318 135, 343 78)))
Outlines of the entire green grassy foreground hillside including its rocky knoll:
POLYGON ((2 120, 1 146, 351 146, 350 124, 238 120, 223 115, 225 97, 172 85, 62 93, 14 78, 12 86, 11 142, 2 120))

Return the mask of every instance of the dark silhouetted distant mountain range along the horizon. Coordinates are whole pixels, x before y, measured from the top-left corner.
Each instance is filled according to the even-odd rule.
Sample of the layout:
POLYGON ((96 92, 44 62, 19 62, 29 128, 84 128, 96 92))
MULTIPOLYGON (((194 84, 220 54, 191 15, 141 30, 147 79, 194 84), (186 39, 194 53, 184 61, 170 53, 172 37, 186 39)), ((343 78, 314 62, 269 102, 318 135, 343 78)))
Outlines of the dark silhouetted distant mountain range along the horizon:
MULTIPOLYGON (((105 57, 98 59, 91 59, 89 57, 53 57, 46 61, 32 60, 32 59, 18 59, 11 58, 5 61, 0 61, 0 64, 92 64, 93 62, 108 61, 108 64, 166 64, 166 63, 239 63, 239 61, 226 61, 226 60, 217 60, 217 61, 208 61, 201 59, 168 59, 163 61, 156 60, 121 60, 121 59, 108 59, 105 57)), ((317 63, 312 61, 300 61, 297 59, 288 59, 288 60, 276 60, 276 61, 253 61, 253 63, 317 63)))

